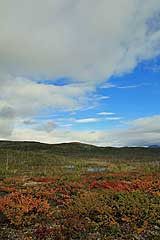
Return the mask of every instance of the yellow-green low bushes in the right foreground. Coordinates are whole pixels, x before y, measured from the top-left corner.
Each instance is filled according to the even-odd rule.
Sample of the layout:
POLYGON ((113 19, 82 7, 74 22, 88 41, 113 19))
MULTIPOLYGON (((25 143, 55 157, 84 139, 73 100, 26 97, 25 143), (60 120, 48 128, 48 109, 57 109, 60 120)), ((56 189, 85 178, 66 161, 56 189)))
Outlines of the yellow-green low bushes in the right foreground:
POLYGON ((99 233, 103 238, 144 234, 160 222, 159 197, 143 192, 86 192, 65 211, 64 235, 87 239, 99 233))

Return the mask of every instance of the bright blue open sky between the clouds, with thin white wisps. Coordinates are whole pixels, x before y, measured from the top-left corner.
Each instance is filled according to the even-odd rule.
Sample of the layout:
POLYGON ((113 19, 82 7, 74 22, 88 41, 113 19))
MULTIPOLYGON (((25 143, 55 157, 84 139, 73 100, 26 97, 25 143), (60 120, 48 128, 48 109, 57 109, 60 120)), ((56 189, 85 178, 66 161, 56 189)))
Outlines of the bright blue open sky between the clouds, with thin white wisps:
MULTIPOLYGON (((106 79, 91 95, 93 102, 77 111, 58 111, 35 117, 39 121, 54 121, 57 128, 80 131, 127 129, 135 119, 159 115, 160 58, 139 63, 121 76, 106 79)), ((69 85, 67 77, 42 83, 69 85)))

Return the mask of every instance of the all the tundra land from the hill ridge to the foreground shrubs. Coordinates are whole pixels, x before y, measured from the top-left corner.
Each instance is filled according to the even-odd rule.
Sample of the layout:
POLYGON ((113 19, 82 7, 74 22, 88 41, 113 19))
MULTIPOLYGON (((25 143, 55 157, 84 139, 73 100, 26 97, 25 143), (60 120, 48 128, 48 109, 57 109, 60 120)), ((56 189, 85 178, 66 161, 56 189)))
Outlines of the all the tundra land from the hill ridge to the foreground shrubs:
POLYGON ((0 239, 160 239, 158 147, 1 141, 0 176, 0 239))

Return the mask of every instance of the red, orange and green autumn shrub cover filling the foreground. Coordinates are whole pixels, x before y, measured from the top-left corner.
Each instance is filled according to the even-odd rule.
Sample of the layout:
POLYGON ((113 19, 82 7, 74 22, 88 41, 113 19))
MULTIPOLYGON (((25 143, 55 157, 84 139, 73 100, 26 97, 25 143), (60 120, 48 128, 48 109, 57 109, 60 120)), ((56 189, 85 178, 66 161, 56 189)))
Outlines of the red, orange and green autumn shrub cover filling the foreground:
MULTIPOLYGON (((72 171, 72 170, 71 170, 72 171)), ((160 174, 82 172, 0 181, 0 239, 157 239, 160 174)))

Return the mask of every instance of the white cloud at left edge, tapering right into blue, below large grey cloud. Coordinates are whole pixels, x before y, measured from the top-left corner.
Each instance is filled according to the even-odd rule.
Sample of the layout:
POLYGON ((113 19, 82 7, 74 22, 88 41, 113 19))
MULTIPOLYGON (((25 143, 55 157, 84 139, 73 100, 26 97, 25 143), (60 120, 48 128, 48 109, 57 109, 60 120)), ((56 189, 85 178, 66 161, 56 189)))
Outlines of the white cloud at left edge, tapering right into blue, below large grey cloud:
POLYGON ((6 137, 11 135, 15 125, 33 124, 32 118, 35 116, 45 115, 48 118, 50 112, 88 107, 90 97, 87 94, 93 89, 92 86, 80 83, 64 86, 39 84, 11 75, 0 75, 0 83, 0 137, 5 137, 5 133, 6 137))

